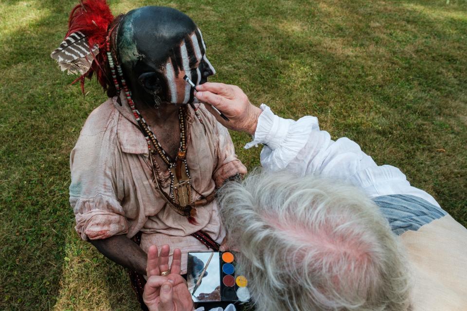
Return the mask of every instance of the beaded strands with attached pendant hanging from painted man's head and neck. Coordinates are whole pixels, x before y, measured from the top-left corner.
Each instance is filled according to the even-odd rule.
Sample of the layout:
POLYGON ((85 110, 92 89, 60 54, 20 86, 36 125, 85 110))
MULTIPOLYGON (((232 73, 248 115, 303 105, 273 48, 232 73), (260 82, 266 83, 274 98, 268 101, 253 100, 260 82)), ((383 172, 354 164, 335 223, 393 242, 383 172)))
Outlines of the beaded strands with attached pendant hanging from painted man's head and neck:
MULTIPOLYGON (((171 161, 169 155, 162 148, 161 144, 157 140, 156 136, 152 132, 149 125, 146 123, 144 118, 141 116, 140 112, 136 109, 135 104, 131 98, 131 91, 126 85, 125 78, 123 76, 123 70, 121 66, 117 63, 115 64, 110 52, 110 42, 109 38, 106 43, 107 47, 107 57, 110 71, 112 73, 113 83, 117 92, 120 92, 121 87, 117 79, 117 72, 122 82, 123 90, 125 92, 126 101, 128 102, 133 115, 140 125, 140 128, 144 134, 144 138, 147 142, 147 148, 149 150, 150 159, 153 165, 153 168, 156 170, 158 177, 160 179, 162 187, 167 187, 168 184, 163 181, 163 174, 159 165, 156 162, 156 153, 162 158, 162 160, 169 166, 170 173, 170 201, 168 203, 177 213, 183 216, 195 216, 196 209, 191 207, 191 177, 188 171, 188 166, 186 164, 186 133, 185 133, 185 118, 183 117, 184 109, 180 107, 179 109, 179 120, 180 120, 180 147, 175 158, 175 161, 171 161), (116 65, 116 66, 115 66, 116 65), (151 147, 151 143, 154 146, 155 150, 151 147)), ((162 189, 159 189, 164 199, 167 199, 165 192, 162 189)))

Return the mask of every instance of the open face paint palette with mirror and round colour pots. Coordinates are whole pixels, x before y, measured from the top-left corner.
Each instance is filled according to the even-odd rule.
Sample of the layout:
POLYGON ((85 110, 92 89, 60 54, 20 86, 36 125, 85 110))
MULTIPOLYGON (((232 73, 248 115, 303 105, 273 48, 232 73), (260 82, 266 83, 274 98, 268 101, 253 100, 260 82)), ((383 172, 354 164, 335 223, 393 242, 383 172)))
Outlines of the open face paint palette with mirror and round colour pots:
POLYGON ((195 302, 250 300, 248 280, 236 275, 231 252, 188 253, 187 282, 195 302))

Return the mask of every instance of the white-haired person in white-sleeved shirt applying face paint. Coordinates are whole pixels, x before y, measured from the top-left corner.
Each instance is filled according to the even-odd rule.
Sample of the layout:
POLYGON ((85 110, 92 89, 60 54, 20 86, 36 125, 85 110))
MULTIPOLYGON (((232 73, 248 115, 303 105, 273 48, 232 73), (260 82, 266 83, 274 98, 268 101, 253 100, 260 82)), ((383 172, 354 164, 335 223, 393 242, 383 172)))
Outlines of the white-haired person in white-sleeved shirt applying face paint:
MULTIPOLYGON (((377 166, 352 140, 331 140, 315 117, 282 119, 237 86, 197 90, 200 102, 230 119, 207 105, 219 122, 253 135, 246 148, 264 145, 263 172, 219 193, 256 310, 467 310, 467 229, 430 194, 399 169, 377 166)), ((155 249, 148 265, 156 265, 155 249)), ((194 309, 177 268, 153 271, 150 310, 194 309)))

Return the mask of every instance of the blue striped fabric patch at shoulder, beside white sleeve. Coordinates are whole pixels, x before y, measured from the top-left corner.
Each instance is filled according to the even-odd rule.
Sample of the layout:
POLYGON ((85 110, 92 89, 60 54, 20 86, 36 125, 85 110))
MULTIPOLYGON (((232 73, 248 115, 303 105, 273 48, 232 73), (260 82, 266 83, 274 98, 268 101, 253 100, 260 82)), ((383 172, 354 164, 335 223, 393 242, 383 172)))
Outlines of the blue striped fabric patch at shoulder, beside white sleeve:
POLYGON ((373 201, 381 209, 396 235, 401 235, 407 230, 417 231, 421 226, 447 215, 441 207, 414 195, 382 195, 373 201))

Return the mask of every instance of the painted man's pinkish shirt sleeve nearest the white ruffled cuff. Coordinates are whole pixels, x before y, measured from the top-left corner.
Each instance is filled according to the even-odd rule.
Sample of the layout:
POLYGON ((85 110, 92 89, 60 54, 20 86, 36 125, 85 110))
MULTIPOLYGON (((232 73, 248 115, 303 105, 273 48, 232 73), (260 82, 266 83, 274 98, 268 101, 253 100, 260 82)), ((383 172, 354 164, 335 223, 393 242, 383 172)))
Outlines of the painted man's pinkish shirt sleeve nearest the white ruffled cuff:
POLYGON ((213 179, 216 187, 220 187, 229 177, 246 174, 247 168, 235 155, 234 143, 229 131, 217 121, 215 121, 215 126, 218 144, 216 147, 217 165, 213 173, 213 179))

